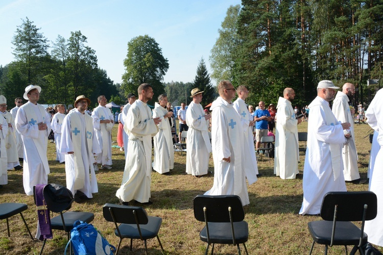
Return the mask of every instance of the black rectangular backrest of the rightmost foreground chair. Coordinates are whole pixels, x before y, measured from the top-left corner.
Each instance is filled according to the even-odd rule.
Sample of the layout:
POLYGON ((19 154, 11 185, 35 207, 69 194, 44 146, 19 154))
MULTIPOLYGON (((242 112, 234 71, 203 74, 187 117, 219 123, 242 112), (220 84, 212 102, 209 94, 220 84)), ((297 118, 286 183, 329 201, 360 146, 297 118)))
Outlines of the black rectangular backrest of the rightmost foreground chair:
POLYGON ((377 199, 371 191, 328 192, 324 195, 321 217, 333 220, 334 208, 338 205, 337 221, 362 221, 364 205, 367 205, 366 220, 376 217, 377 199))

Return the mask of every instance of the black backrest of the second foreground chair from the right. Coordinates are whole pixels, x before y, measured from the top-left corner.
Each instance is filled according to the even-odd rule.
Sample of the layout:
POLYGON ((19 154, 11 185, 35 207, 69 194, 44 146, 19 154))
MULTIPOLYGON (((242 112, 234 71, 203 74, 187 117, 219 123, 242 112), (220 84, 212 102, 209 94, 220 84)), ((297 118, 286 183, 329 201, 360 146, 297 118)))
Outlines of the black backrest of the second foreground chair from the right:
POLYGON ((233 222, 243 221, 244 208, 239 196, 236 195, 198 195, 194 198, 194 217, 205 222, 203 208, 206 207, 208 222, 230 222, 228 208, 231 207, 233 222))

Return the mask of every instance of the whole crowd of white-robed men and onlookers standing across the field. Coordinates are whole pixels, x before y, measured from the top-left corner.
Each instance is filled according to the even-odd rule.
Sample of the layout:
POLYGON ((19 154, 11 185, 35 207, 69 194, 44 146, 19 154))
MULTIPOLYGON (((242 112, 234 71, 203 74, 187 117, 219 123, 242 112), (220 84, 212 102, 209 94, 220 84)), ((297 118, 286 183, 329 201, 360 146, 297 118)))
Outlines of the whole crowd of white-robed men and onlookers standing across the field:
MULTIPOLYGON (((349 106, 355 87, 345 83, 342 90, 337 91, 339 89, 331 81, 319 82, 317 97, 299 111, 292 104, 295 91, 285 88, 276 107, 270 104, 266 109, 265 102, 260 101, 254 109, 246 104, 249 91, 245 86, 234 88, 229 81, 221 81, 219 97, 212 102, 209 113, 201 105, 204 91, 194 88, 187 110, 182 103, 177 114, 179 141, 182 131, 187 131, 186 173, 195 177, 210 175, 212 152, 214 179, 205 194, 238 195, 246 206, 250 203, 247 185, 254 184, 260 176, 256 153, 261 153, 261 138, 274 135, 274 129, 274 174, 281 179, 295 179, 300 174, 297 125, 307 120, 309 112, 299 214, 318 215, 325 193, 347 191, 346 182, 365 182, 360 178, 357 165, 355 111, 349 106)), ((34 186, 48 183, 50 168, 46 149, 52 130, 56 160, 65 164, 66 187, 78 202, 91 199, 92 194, 98 192, 95 172, 112 168, 111 130, 118 123, 117 142, 126 161, 122 183, 115 195, 123 205, 133 200, 153 203, 150 199, 152 171, 170 173, 174 168, 173 145, 177 142, 175 116, 165 94, 158 96, 152 111, 147 103, 153 99, 153 88, 150 84, 141 84, 138 96, 130 93, 128 104, 121 107, 121 113, 116 116, 105 107, 104 95, 98 97, 99 106, 90 115, 87 112, 90 99, 80 95, 74 109, 65 115, 65 106, 57 105, 57 113, 52 116, 37 103, 40 92, 39 86, 28 86, 23 95, 28 102, 23 104, 22 98, 17 97, 16 107, 10 112, 6 110, 7 99, 0 95, 1 185, 7 184, 7 170, 13 168, 23 169, 23 188, 27 195, 33 194, 34 186), (20 160, 23 160, 22 166, 20 160)), ((383 134, 379 134, 379 129, 383 129, 382 97, 383 92, 379 90, 366 112, 358 109, 358 114, 363 111, 363 120, 367 119, 375 130, 369 189, 378 196, 378 208, 383 207, 383 176, 379 169, 383 152, 378 149, 383 146, 383 134)), ((383 246, 382 220, 383 212, 378 210, 377 217, 367 222, 365 228, 369 241, 380 246, 383 246)))

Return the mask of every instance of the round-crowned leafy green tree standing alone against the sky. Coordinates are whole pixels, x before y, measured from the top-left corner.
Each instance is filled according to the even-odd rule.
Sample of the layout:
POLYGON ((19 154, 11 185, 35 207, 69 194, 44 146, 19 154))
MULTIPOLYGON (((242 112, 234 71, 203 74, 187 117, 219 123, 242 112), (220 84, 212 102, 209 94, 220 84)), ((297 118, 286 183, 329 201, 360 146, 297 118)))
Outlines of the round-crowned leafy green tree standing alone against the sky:
POLYGON ((137 93, 140 84, 149 83, 154 91, 153 100, 149 104, 153 104, 155 98, 164 92, 162 81, 169 69, 169 63, 155 39, 145 35, 130 40, 124 66, 126 70, 121 87, 125 93, 137 93))

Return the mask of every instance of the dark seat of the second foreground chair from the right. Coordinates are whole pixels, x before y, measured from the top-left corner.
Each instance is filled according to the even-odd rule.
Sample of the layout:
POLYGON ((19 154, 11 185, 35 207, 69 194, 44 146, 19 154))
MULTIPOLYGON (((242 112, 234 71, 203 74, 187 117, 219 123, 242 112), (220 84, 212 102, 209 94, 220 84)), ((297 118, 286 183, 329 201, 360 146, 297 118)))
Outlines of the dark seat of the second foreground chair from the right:
MULTIPOLYGON (((237 243, 245 243, 249 238, 249 229, 246 221, 233 222, 234 235, 237 243)), ((210 243, 232 244, 230 222, 208 222, 210 243)), ((207 243, 206 226, 200 233, 201 241, 207 243)))

